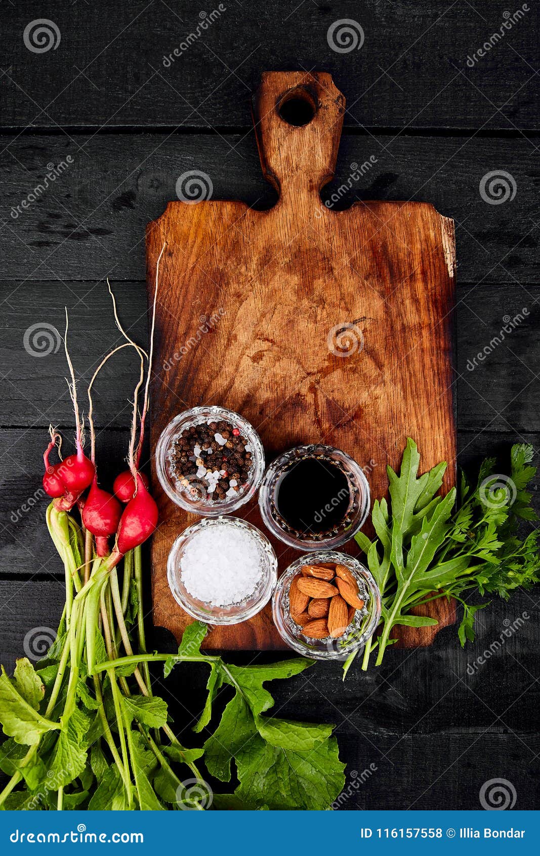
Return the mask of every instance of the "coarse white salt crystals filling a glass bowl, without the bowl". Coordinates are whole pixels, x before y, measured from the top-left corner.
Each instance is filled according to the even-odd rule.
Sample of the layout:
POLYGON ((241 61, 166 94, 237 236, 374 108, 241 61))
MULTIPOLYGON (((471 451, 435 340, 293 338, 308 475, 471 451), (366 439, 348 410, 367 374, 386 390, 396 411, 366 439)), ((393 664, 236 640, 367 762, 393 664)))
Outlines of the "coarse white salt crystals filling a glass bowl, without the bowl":
POLYGON ((192 597, 212 606, 229 606, 254 593, 264 565, 264 552, 251 532, 216 524, 202 527, 187 543, 180 578, 192 597))

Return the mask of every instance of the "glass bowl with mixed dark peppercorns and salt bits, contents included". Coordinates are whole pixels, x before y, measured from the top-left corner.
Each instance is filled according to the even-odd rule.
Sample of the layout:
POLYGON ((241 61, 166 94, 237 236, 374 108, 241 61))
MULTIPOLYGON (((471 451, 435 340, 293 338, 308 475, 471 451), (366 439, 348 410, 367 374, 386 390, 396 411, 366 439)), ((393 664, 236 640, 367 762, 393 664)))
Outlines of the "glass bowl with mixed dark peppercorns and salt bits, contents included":
POLYGON ((192 407, 163 431, 156 448, 157 478, 186 511, 214 517, 248 502, 264 474, 257 431, 225 407, 192 407))

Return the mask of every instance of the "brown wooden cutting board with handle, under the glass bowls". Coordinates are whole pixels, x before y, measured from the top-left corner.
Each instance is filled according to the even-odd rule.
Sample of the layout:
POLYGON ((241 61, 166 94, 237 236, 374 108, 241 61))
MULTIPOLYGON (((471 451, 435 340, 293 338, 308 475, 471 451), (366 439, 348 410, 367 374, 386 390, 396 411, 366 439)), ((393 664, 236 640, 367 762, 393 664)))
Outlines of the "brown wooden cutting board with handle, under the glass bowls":
MULTIPOLYGON (((373 498, 385 493, 386 465, 399 466, 410 436, 423 469, 449 462, 446 491, 455 482, 456 456, 454 222, 427 203, 357 202, 347 211, 323 205, 319 190, 334 175, 344 110, 329 74, 263 74, 254 124, 276 205, 253 211, 242 202, 175 201, 149 223, 150 303, 167 244, 159 269, 152 453, 177 413, 218 404, 252 422, 267 461, 299 443, 344 449, 365 467, 373 498), (282 118, 310 115, 301 127, 282 118)), ((192 619, 170 594, 167 556, 198 518, 170 502, 155 470, 153 476, 161 520, 152 544, 154 622, 179 639, 192 619)), ((237 514, 263 527, 257 502, 237 514)), ((281 570, 299 555, 273 544, 281 570)), ((349 550, 359 554, 354 543, 349 550)), ((439 626, 402 628, 401 645, 429 645, 455 620, 453 604, 435 604, 430 614, 439 626)), ((214 628, 207 646, 286 647, 270 607, 240 625, 214 628)))

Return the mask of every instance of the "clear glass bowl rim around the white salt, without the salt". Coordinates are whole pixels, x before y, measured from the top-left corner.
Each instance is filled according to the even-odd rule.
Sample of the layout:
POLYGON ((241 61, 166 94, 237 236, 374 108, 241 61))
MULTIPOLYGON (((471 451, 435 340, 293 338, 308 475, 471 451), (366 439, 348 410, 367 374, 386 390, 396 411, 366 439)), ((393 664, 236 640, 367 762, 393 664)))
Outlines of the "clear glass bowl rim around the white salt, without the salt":
POLYGON ((277 580, 276 553, 268 538, 256 526, 252 526, 246 520, 240 520, 238 517, 205 518, 194 526, 189 526, 176 538, 167 561, 167 579, 175 601, 180 603, 181 608, 185 609, 189 615, 193 615, 193 618, 205 621, 207 624, 240 624, 240 621, 246 621, 253 615, 257 615, 269 602, 277 580), (212 603, 205 603, 197 597, 193 597, 182 582, 181 562, 188 544, 193 544, 198 534, 207 532, 211 526, 227 526, 232 530, 247 532, 258 544, 263 565, 261 578, 250 596, 245 597, 239 603, 230 603, 228 606, 215 606, 212 603))

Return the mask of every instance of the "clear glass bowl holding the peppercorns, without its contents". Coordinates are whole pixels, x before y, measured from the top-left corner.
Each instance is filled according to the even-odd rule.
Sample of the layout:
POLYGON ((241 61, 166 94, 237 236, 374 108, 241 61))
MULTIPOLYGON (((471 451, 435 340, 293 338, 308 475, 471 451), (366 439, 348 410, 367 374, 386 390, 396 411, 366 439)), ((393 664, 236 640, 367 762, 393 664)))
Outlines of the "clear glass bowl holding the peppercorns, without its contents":
MULTIPOLYGON (((218 432, 219 433, 219 432, 218 432)), ((234 441, 233 437, 230 437, 234 441)), ((225 441, 223 441, 225 443, 225 441)), ((208 455, 211 462, 211 455, 208 455)), ((226 465, 226 462, 223 466, 226 465)), ((193 514, 214 517, 219 514, 231 514, 252 498, 261 483, 264 473, 264 450, 257 431, 239 413, 227 410, 225 407, 192 407, 175 416, 165 428, 157 441, 156 472, 163 490, 176 505, 193 514), (249 470, 247 483, 239 485, 240 490, 223 500, 212 500, 210 486, 205 476, 199 476, 199 467, 193 463, 193 475, 182 478, 176 475, 173 453, 175 441, 181 437, 181 432, 194 425, 207 425, 211 422, 230 422, 240 430, 240 435, 248 441, 246 451, 251 452, 252 467, 249 470)))

